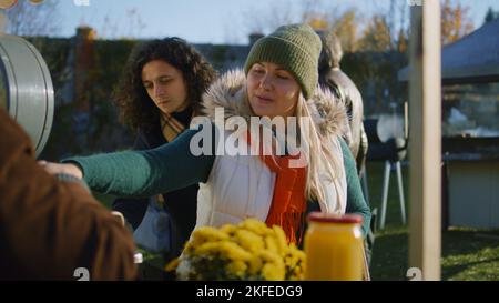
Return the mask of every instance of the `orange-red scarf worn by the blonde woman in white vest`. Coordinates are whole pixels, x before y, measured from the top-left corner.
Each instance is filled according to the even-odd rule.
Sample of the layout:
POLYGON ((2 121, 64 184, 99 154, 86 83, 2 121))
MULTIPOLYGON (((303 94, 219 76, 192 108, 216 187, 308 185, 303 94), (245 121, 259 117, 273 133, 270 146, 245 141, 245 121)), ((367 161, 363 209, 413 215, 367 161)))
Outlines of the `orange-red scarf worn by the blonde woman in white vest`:
MULTIPOLYGON (((246 138, 251 144, 249 133, 246 138)), ((297 155, 264 155, 259 147, 259 158, 276 174, 274 195, 265 223, 284 230, 289 243, 299 243, 303 236, 303 218, 306 210, 305 186, 307 169, 289 168, 289 161, 297 155)))

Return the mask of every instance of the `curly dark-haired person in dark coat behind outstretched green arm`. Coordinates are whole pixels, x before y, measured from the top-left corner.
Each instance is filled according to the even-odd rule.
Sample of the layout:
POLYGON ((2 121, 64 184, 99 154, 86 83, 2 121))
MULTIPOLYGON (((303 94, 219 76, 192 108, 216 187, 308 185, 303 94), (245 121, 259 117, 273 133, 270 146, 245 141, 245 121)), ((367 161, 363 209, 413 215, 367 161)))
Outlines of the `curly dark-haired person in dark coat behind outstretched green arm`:
MULTIPOLYGON (((154 149, 189 129, 191 119, 200 113, 202 94, 215 77, 210 63, 183 39, 165 38, 138 46, 113 98, 121 121, 136 132, 133 149, 154 149)), ((154 213, 144 222, 150 226, 142 226, 140 235, 135 232, 135 240, 170 260, 180 255, 194 229, 197 189, 196 184, 150 199, 118 199, 113 210, 121 212, 135 231, 146 211, 154 213), (154 242, 146 243, 147 239, 154 242)))

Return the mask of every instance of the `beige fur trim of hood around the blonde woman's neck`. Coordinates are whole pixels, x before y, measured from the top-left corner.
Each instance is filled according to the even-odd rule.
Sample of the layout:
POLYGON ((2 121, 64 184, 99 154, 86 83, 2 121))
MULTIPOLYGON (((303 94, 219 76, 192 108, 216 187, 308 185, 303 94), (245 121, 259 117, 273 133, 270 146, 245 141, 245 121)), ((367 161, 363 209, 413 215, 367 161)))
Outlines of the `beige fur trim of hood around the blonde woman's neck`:
MULTIPOLYGON (((214 120, 215 109, 222 107, 225 120, 235 115, 248 120, 252 110, 245 101, 245 84, 246 75, 242 70, 232 70, 221 75, 203 95, 203 113, 214 120)), ((306 104, 322 135, 340 135, 348 141, 348 119, 342 101, 318 87, 306 104)))

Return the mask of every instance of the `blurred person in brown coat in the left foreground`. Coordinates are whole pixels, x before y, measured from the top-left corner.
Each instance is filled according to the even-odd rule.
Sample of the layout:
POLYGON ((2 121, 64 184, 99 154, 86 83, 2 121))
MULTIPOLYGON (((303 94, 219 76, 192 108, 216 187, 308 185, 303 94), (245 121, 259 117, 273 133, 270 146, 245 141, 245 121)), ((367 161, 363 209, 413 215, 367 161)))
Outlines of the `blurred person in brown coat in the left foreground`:
POLYGON ((51 176, 0 108, 0 280, 133 280, 132 234, 69 175, 51 176))

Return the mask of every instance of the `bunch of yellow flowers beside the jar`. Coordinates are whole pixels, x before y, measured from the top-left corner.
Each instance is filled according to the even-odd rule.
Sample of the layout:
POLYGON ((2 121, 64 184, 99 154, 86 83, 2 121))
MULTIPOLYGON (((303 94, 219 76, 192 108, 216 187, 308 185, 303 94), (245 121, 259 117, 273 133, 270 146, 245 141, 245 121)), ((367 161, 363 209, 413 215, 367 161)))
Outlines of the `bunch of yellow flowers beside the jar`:
POLYGON ((279 226, 247 219, 195 230, 166 270, 180 280, 303 280, 305 253, 287 244, 279 226))

